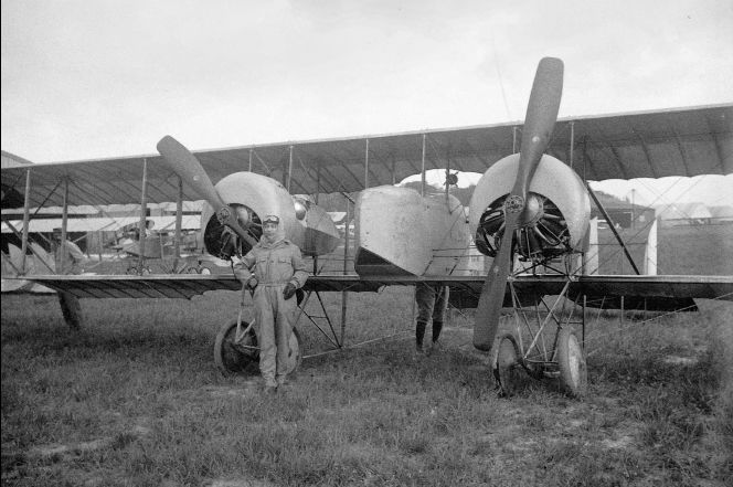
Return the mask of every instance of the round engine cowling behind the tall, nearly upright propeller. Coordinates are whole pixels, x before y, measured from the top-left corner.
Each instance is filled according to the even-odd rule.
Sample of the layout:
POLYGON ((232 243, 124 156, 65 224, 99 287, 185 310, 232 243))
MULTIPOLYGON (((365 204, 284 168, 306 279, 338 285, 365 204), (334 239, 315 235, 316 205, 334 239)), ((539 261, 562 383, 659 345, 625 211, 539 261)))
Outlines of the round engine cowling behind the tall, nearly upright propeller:
MULTIPOLYGON (((469 225, 477 248, 495 256, 503 237, 504 200, 517 179, 519 153, 491 166, 470 201, 469 225)), ((569 166, 543 155, 519 220, 517 252, 523 260, 552 258, 581 251, 591 218, 585 184, 569 166)))

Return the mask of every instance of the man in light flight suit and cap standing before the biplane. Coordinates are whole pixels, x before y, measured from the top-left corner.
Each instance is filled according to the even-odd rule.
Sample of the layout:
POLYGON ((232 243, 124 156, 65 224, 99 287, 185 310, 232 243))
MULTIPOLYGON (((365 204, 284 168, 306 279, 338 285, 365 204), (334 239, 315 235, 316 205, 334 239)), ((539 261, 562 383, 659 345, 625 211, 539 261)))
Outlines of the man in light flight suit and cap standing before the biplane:
POLYGON ((278 216, 265 216, 259 243, 234 265, 234 275, 254 290, 259 371, 265 391, 274 392, 285 383, 289 371, 289 341, 297 308, 295 292, 308 278, 300 248, 285 239, 278 216))

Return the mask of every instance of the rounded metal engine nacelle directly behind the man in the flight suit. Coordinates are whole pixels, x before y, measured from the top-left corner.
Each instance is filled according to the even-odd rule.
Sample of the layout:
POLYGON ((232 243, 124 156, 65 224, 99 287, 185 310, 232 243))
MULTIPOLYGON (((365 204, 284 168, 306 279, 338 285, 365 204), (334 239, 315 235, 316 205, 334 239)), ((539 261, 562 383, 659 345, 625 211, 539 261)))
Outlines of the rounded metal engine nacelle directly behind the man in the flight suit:
MULTIPOLYGON (((255 239, 262 236, 262 220, 269 214, 280 218, 285 236, 305 255, 332 252, 340 236, 326 211, 302 197, 294 197, 278 181, 254 172, 234 172, 215 186, 222 200, 236 212, 240 225, 255 239)), ((208 203, 201 212, 201 229, 206 252, 220 258, 249 251, 234 233, 222 225, 208 203)))

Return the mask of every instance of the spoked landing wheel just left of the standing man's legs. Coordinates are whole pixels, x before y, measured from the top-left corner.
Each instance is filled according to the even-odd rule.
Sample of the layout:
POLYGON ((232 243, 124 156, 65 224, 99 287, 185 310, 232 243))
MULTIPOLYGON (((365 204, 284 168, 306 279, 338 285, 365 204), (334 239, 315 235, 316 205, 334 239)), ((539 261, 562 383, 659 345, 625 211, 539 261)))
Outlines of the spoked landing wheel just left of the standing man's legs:
MULTIPOLYGON (((242 321, 241 330, 244 331, 248 326, 248 322, 242 321)), ((252 366, 256 367, 258 362, 259 348, 254 328, 249 328, 238 342, 236 342, 236 320, 219 330, 214 340, 214 363, 222 373, 244 374, 256 370, 252 366)))

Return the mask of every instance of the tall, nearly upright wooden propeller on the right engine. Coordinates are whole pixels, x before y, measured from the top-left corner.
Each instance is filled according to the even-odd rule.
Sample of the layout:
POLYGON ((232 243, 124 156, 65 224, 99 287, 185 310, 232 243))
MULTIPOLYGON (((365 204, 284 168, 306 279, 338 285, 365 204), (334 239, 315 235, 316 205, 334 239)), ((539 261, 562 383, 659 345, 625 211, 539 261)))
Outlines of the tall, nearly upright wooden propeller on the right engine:
POLYGON ((550 144, 557 120, 563 87, 563 62, 555 57, 540 61, 524 117, 519 168, 514 187, 504 201, 504 232, 501 246, 484 282, 474 324, 474 347, 488 351, 499 326, 507 278, 511 272, 514 232, 524 209, 530 181, 542 153, 550 144))

